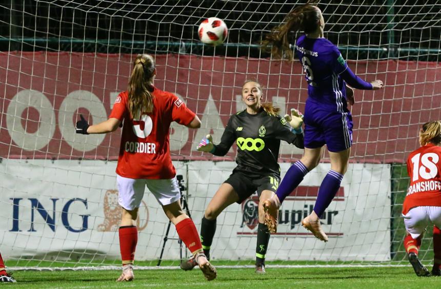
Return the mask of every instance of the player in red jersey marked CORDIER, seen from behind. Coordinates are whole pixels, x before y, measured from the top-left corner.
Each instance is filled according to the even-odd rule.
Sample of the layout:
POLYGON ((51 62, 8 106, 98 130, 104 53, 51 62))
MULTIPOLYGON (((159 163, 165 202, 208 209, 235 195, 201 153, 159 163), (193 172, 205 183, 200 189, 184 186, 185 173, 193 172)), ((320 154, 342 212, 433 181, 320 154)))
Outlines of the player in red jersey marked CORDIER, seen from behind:
POLYGON ((119 227, 119 246, 123 274, 116 281, 133 280, 133 260, 138 232, 135 221, 147 185, 175 224, 179 238, 192 252, 207 280, 216 278, 216 270, 205 257, 193 221, 183 212, 170 157, 170 123, 189 128, 201 127, 199 118, 176 95, 153 86, 156 75, 154 59, 139 54, 129 79, 128 91, 116 97, 109 119, 89 126, 81 116, 76 132, 82 134, 115 131, 124 119, 116 179, 118 203, 123 207, 119 227))

